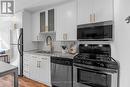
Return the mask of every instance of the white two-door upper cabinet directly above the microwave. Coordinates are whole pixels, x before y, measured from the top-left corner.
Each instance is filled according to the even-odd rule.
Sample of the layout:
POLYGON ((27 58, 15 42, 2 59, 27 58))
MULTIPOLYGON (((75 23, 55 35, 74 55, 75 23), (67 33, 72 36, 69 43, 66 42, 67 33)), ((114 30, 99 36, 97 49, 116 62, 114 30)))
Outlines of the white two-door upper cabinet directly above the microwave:
POLYGON ((77 0, 78 25, 113 20, 113 0, 77 0))

